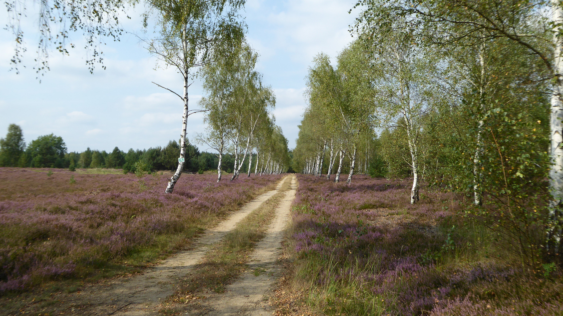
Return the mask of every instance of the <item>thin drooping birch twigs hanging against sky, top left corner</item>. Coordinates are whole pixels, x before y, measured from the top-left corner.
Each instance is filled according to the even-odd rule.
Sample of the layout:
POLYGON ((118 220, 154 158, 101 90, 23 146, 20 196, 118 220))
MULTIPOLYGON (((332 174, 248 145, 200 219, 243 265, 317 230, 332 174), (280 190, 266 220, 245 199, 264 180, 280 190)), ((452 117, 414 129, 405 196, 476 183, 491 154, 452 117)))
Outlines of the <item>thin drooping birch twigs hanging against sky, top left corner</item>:
MULTIPOLYGON (((51 49, 68 55, 68 48, 75 47, 70 40, 70 33, 79 31, 85 39, 84 49, 88 52, 86 65, 92 73, 95 65, 103 61, 101 57, 103 52, 100 49, 100 45, 104 43, 103 38, 119 41, 123 33, 120 25, 122 14, 125 13, 127 19, 130 19, 126 10, 137 2, 137 0, 40 1, 37 12, 39 39, 34 69, 37 73, 49 70, 48 57, 51 49)), ((11 63, 18 71, 18 66, 22 64, 23 53, 27 50, 21 21, 28 18, 29 3, 25 0, 8 0, 5 6, 8 12, 6 26, 12 31, 15 42, 11 63)), ((105 69, 105 66, 102 65, 102 69, 105 69)))

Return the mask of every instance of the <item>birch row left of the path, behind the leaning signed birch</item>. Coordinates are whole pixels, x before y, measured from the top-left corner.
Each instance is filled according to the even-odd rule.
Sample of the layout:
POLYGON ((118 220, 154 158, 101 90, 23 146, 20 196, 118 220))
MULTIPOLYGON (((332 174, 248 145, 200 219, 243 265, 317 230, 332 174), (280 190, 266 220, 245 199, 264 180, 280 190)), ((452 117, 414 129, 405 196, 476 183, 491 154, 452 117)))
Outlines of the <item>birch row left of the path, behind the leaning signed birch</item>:
POLYGON ((242 44, 229 58, 218 58, 200 72, 207 97, 199 105, 207 110, 207 128, 198 141, 218 152, 217 182, 225 152, 235 158, 230 180, 239 177, 247 159, 247 177, 252 166, 254 174, 282 173, 289 166, 287 139, 270 112, 275 107, 274 91, 254 69, 257 60, 258 54, 242 44))

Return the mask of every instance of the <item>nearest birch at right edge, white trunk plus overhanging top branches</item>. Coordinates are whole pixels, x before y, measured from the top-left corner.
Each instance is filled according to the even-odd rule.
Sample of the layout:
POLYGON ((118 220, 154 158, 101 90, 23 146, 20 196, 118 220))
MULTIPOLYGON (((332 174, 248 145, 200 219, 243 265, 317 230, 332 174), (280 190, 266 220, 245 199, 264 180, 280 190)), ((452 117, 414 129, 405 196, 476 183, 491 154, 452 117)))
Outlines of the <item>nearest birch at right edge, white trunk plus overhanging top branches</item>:
POLYGON ((355 29, 359 33, 377 36, 376 30, 385 33, 381 29, 388 29, 392 21, 404 18, 407 28, 439 46, 452 47, 459 42, 479 46, 487 41, 506 39, 521 46, 530 59, 542 65, 545 72, 542 81, 551 82, 552 94, 548 152, 553 164, 549 182, 552 199, 548 240, 552 239, 555 247, 559 247, 563 201, 561 1, 360 0, 356 6, 365 7, 356 19, 355 29))

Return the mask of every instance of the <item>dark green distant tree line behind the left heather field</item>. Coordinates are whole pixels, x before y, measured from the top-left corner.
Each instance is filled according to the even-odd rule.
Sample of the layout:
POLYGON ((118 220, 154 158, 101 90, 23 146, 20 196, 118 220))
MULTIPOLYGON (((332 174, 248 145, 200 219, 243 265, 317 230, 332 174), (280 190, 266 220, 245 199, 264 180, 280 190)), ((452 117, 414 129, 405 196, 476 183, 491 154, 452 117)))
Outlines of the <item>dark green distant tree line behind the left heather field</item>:
MULTIPOLYGON (((123 173, 135 172, 136 162, 142 161, 145 170, 159 171, 175 170, 178 165, 178 151, 180 146, 177 141, 169 141, 164 147, 151 147, 143 150, 127 152, 115 147, 113 151, 91 150, 88 147, 82 152, 69 152, 64 140, 60 136, 48 134, 37 139, 24 142, 23 131, 16 124, 8 126, 5 138, 0 138, 0 167, 20 168, 114 168, 123 169, 123 173)), ((184 171, 199 172, 216 170, 217 154, 199 151, 199 148, 189 144, 186 150, 186 163, 184 171)), ((234 156, 223 156, 222 170, 232 173, 234 169, 234 156)), ((248 170, 248 163, 242 166, 248 170)))

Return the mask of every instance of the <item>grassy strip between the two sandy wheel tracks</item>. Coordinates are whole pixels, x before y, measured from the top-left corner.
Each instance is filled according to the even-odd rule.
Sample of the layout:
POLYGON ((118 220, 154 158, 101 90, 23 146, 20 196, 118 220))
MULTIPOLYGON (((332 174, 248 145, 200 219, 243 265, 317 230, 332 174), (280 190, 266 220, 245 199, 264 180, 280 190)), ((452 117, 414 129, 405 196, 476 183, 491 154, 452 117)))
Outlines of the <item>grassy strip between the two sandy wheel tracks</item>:
MULTIPOLYGON (((186 303, 202 298, 204 291, 225 291, 225 286, 247 268, 249 254, 265 236, 275 216, 275 207, 284 197, 284 191, 289 189, 291 179, 291 176, 287 177, 278 193, 248 214, 205 255, 203 262, 182 280, 181 289, 171 300, 186 303)), ((166 314, 164 311, 162 313, 166 314)))

